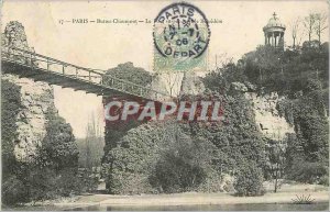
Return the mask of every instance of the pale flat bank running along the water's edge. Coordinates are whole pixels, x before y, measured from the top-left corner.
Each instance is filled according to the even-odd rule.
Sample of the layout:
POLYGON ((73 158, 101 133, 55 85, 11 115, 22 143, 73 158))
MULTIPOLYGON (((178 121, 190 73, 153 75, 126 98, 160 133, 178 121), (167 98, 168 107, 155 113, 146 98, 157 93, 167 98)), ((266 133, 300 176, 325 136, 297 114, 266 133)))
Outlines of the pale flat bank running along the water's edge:
POLYGON ((172 194, 141 194, 141 196, 112 196, 85 194, 70 199, 58 199, 48 202, 38 202, 36 205, 20 208, 3 208, 4 210, 70 210, 89 205, 113 207, 153 207, 153 205, 211 205, 211 204, 258 204, 258 203, 293 203, 296 196, 308 196, 314 202, 328 202, 328 187, 318 185, 283 185, 278 192, 272 192, 272 185, 266 187, 267 193, 261 197, 234 197, 231 193, 172 193, 172 194))

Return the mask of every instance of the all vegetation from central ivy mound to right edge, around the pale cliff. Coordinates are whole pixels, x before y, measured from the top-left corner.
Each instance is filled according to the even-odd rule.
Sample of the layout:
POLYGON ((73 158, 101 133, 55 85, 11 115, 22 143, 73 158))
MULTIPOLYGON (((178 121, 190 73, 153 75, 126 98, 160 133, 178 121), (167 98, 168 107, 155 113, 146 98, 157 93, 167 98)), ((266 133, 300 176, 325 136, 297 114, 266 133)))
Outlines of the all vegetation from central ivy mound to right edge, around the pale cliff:
POLYGON ((234 190, 238 196, 257 196, 264 192, 265 179, 328 183, 329 52, 328 44, 315 43, 284 52, 260 46, 237 64, 209 72, 202 97, 222 101, 221 123, 132 122, 116 133, 108 127, 108 192, 234 190), (283 141, 263 137, 251 102, 233 85, 286 97, 277 110, 295 134, 283 141))

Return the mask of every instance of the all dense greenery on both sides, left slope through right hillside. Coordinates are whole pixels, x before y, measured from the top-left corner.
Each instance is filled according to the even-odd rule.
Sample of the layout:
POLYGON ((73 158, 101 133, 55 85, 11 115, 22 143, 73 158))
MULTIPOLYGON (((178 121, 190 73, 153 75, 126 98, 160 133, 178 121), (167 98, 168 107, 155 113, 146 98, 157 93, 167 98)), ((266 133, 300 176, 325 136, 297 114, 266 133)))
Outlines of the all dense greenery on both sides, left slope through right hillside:
MULTIPOLYGON (((264 180, 278 177, 329 183, 327 46, 306 42, 301 48, 284 52, 260 46, 237 64, 229 63, 210 71, 204 78, 206 91, 201 98, 222 102, 224 120, 221 122, 169 119, 107 123, 102 158, 107 191, 234 191, 238 196, 258 196, 264 193, 264 180), (263 137, 251 102, 237 89, 240 86, 244 91, 278 92, 286 97, 278 102, 277 110, 294 126, 295 134, 279 142, 263 137)), ((152 80, 148 72, 131 63, 119 65, 108 74, 145 86, 152 80)), ((75 137, 69 124, 53 108, 47 111, 46 136, 34 163, 15 160, 13 118, 22 107, 20 88, 2 80, 1 89, 3 203, 51 199, 84 190, 85 181, 77 177, 75 137)), ((96 138, 91 134, 84 142, 96 138)), ((85 149, 81 167, 99 164, 89 155, 90 150, 85 149)))

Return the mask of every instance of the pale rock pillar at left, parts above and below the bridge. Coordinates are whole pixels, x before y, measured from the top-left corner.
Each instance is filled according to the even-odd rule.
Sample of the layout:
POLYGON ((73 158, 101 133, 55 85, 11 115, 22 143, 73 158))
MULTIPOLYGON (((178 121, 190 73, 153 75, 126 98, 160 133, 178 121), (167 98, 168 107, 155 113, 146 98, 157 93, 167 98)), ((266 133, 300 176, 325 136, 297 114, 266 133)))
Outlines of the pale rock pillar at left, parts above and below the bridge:
MULTIPOLYGON (((23 25, 16 21, 6 26, 1 43, 26 51, 33 49, 28 45, 23 25)), ((53 88, 45 82, 34 82, 32 79, 10 74, 2 75, 1 79, 20 87, 22 108, 13 118, 18 126, 18 137, 12 142, 16 160, 30 161, 46 134, 45 114, 50 107, 55 107, 53 88)))

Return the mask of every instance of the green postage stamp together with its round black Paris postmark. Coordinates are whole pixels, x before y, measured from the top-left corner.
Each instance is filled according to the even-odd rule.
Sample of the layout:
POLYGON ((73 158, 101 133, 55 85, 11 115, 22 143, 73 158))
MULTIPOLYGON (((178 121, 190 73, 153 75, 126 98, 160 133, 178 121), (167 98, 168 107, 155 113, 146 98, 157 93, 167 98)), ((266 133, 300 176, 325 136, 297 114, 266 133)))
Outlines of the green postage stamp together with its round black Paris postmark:
POLYGON ((187 71, 205 66, 210 34, 200 9, 187 2, 167 5, 154 20, 155 68, 187 71))

